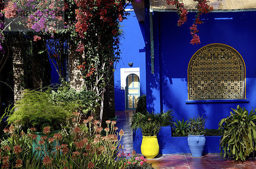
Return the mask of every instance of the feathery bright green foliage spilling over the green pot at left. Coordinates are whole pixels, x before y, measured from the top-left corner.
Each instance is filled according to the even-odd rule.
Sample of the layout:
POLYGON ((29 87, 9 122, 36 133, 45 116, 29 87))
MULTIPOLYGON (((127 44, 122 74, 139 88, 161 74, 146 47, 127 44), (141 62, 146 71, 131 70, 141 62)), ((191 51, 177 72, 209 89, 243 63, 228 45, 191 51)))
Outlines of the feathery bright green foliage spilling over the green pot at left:
MULTIPOLYGON (((24 131, 32 128, 37 138, 33 141, 33 149, 38 147, 38 142, 45 136, 43 130, 47 127, 47 137, 52 137, 61 126, 64 126, 70 115, 73 105, 60 106, 52 100, 51 91, 24 90, 23 97, 16 102, 10 110, 8 123, 18 122, 24 131), (37 132, 35 132, 37 130, 37 132), (51 131, 51 132, 50 132, 51 131)), ((52 145, 54 147, 54 145, 52 145)))

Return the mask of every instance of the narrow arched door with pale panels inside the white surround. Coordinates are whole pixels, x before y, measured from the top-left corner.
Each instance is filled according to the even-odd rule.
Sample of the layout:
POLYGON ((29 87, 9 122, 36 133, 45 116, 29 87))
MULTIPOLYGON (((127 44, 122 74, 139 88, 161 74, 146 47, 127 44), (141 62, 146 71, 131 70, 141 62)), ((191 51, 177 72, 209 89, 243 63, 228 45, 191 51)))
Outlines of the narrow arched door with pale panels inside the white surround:
POLYGON ((129 74, 126 78, 125 107, 126 110, 135 110, 140 97, 140 79, 136 74, 129 74))

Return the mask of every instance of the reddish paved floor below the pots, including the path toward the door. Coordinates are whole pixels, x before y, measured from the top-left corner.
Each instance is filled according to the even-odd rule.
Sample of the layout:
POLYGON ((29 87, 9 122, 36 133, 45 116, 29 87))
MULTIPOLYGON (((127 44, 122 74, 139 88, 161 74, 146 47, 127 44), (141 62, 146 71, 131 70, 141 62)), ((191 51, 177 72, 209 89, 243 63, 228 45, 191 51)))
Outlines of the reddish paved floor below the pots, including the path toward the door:
MULTIPOLYGON (((129 122, 133 111, 116 112, 116 115, 119 115, 117 127, 125 132, 121 144, 124 145, 126 153, 131 153, 133 145, 129 122)), ((256 158, 249 158, 243 163, 233 163, 230 159, 220 157, 219 153, 203 155, 201 158, 192 158, 191 154, 164 154, 147 161, 157 169, 256 169, 256 158)))

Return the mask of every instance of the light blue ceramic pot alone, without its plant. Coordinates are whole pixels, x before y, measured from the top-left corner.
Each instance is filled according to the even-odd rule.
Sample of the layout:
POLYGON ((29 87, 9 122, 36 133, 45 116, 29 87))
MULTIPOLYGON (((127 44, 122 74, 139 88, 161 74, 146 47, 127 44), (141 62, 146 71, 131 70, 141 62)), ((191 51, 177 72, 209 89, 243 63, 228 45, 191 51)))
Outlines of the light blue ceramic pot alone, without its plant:
POLYGON ((205 145, 204 135, 189 135, 188 144, 192 157, 202 157, 205 145))

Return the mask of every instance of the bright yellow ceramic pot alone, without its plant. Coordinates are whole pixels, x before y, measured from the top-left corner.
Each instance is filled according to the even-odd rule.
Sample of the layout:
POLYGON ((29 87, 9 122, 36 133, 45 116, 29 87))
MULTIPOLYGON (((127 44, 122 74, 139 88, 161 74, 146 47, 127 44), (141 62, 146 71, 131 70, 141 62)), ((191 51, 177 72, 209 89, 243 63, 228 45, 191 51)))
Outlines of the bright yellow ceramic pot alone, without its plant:
POLYGON ((157 136, 142 136, 142 143, 140 146, 141 153, 146 158, 151 159, 158 155, 159 145, 157 136))

